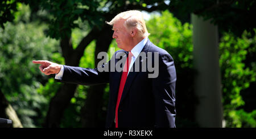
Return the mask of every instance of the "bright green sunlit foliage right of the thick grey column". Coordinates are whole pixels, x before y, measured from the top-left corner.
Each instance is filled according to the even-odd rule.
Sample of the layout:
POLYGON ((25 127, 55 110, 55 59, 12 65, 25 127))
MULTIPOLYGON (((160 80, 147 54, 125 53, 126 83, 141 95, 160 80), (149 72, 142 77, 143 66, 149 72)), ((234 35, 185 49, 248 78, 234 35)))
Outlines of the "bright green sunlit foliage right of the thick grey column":
POLYGON ((253 59, 256 53, 255 46, 256 36, 251 36, 246 31, 241 38, 228 33, 221 38, 220 67, 224 119, 227 127, 256 127, 256 110, 243 110, 246 102, 241 95, 256 79, 256 61, 253 59))

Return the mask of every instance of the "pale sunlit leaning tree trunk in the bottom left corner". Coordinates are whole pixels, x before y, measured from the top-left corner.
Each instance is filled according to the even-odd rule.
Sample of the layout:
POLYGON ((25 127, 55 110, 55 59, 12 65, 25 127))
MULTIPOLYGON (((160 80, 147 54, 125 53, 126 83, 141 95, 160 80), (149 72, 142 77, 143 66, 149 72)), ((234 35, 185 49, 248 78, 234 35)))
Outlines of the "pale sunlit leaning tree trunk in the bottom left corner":
POLYGON ((15 110, 10 105, 10 103, 5 98, 5 95, 0 90, 0 118, 10 119, 13 121, 11 127, 22 128, 22 123, 20 122, 15 110))

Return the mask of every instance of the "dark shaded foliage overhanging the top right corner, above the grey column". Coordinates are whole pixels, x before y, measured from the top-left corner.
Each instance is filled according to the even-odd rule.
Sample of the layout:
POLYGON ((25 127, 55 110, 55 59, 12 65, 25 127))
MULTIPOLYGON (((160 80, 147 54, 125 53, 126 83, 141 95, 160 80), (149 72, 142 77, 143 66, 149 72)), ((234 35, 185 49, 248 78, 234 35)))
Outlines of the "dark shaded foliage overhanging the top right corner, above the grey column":
POLYGON ((172 0, 168 9, 180 19, 191 13, 203 16, 217 24, 221 33, 229 32, 241 37, 245 30, 255 34, 256 20, 251 19, 255 16, 255 7, 255 0, 172 0))

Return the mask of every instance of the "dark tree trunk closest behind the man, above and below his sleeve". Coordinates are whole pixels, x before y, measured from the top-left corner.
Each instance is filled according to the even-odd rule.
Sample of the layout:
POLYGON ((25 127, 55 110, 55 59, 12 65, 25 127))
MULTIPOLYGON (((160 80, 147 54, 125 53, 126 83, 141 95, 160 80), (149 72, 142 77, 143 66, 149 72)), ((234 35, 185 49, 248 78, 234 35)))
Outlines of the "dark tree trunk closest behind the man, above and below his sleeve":
MULTIPOLYGON (((112 31, 109 25, 105 25, 96 40, 96 50, 94 53, 94 65, 97 67, 101 59, 97 59, 98 53, 101 51, 108 52, 109 45, 112 42, 112 31)), ((106 85, 90 86, 88 97, 85 100, 85 105, 81 109, 81 120, 83 127, 104 127, 106 112, 102 110, 103 94, 106 85)))

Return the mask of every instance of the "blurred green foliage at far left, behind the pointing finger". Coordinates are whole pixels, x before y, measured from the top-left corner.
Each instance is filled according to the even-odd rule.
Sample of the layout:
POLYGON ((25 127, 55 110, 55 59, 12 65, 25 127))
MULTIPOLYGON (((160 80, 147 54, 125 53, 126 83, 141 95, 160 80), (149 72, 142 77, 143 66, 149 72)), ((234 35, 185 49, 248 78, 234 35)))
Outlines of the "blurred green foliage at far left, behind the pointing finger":
MULTIPOLYGON (((23 13, 30 12, 24 5, 18 8, 28 10, 23 13)), ((5 30, 0 28, 0 88, 23 127, 38 127, 49 100, 37 89, 48 77, 42 76, 31 61, 52 59, 59 53, 58 41, 44 35, 46 25, 19 22, 20 16, 24 15, 16 15, 15 24, 6 23, 5 30)))

